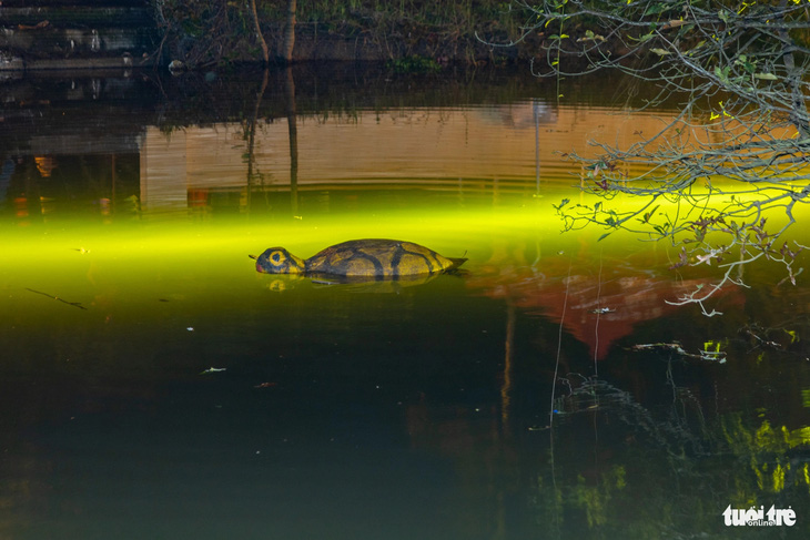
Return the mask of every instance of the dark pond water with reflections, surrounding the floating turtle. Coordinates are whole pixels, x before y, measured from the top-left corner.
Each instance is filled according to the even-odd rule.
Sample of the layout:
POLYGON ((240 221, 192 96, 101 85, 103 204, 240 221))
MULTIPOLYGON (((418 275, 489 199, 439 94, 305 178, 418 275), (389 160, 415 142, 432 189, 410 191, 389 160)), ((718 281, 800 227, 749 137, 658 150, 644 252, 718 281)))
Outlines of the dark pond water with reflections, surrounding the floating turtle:
POLYGON ((751 265, 708 318, 667 300, 717 267, 560 234, 555 151, 671 111, 523 70, 119 75, 0 88, 0 537, 810 532, 804 276, 751 265), (469 261, 324 286, 246 256, 357 237, 469 261), (796 524, 723 523, 751 506, 796 524))

